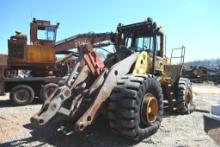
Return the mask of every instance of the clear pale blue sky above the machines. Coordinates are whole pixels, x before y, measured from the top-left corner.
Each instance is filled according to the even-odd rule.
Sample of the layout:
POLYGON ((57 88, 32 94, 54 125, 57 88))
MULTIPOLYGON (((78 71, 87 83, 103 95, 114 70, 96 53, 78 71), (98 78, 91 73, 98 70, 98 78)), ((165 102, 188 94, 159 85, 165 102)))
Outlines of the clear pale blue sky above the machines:
POLYGON ((186 46, 186 61, 220 58, 219 0, 1 0, 0 7, 0 53, 16 30, 29 37, 33 17, 60 22, 57 40, 152 17, 166 31, 168 50, 186 46))

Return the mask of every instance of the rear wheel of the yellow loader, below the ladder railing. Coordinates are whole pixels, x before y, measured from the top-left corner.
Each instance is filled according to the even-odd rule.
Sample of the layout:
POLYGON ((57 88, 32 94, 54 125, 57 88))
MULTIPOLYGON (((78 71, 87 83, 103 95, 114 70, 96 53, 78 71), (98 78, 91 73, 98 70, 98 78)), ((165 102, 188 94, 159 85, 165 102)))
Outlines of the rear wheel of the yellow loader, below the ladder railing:
POLYGON ((192 84, 187 78, 180 78, 176 90, 176 110, 179 114, 190 114, 193 111, 192 84))

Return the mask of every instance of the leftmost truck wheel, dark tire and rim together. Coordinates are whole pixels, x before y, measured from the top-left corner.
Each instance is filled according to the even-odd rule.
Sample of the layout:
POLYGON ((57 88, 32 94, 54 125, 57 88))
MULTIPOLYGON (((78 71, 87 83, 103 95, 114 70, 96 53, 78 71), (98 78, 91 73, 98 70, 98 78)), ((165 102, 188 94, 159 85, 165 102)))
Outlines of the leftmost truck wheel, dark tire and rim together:
POLYGON ((34 90, 28 85, 17 85, 10 91, 10 100, 18 106, 30 104, 34 100, 34 90))

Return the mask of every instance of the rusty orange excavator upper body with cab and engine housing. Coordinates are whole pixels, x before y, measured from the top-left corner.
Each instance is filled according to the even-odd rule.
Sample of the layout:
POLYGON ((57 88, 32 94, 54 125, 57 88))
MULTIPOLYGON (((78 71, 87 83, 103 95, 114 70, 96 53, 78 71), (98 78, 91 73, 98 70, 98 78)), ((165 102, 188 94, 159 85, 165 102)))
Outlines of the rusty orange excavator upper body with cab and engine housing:
MULTIPOLYGON (((32 70, 43 73, 55 69, 56 54, 54 45, 59 23, 36 20, 30 23, 30 44, 27 36, 16 32, 8 40, 8 66, 10 69, 32 70)), ((39 74, 38 74, 39 75, 39 74)), ((39 75, 41 76, 41 75, 39 75)))

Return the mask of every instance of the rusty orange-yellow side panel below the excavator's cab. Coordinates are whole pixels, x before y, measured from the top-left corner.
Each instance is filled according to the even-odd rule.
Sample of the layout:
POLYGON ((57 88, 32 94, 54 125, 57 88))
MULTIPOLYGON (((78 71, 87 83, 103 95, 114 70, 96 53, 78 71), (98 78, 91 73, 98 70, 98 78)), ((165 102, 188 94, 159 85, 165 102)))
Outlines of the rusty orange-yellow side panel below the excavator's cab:
POLYGON ((55 63, 55 51, 51 46, 27 46, 27 63, 55 63))

